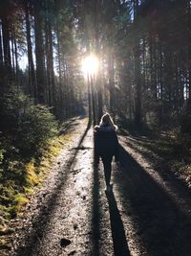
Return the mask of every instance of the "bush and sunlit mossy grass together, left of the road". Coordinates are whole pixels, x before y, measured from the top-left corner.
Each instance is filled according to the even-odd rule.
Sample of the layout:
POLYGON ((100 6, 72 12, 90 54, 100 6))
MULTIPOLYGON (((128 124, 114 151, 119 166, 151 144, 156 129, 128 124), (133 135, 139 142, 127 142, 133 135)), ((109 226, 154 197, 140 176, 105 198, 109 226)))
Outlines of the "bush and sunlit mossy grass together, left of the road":
POLYGON ((61 134, 51 109, 34 105, 20 89, 13 87, 1 98, 0 246, 5 247, 11 220, 22 214, 70 134, 61 134))

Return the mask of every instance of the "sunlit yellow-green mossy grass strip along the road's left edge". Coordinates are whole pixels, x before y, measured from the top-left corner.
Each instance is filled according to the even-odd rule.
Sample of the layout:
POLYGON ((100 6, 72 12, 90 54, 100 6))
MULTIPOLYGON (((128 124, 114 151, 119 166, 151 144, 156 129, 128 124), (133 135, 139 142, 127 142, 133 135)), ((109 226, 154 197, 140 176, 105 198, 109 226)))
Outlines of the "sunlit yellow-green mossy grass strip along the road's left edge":
POLYGON ((11 155, 5 166, 1 165, 0 249, 11 247, 10 235, 14 232, 11 221, 23 214, 26 203, 35 189, 42 185, 56 156, 71 139, 72 133, 62 132, 50 139, 34 155, 11 155), (3 172, 4 167, 7 172, 3 172))

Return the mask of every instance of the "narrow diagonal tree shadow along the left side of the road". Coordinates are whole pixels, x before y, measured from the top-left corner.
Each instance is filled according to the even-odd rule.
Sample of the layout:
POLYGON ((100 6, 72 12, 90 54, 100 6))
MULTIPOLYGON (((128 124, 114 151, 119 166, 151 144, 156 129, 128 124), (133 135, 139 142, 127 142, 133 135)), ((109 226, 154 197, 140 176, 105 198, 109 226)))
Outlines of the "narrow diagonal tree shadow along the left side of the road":
POLYGON ((40 244, 40 241, 43 237, 43 234, 46 233, 46 228, 49 222, 52 219, 53 210, 56 207, 56 200, 59 198, 60 193, 62 193, 62 189, 67 182, 67 174, 70 173, 70 170, 73 168, 75 157, 77 151, 80 149, 81 144, 90 128, 90 124, 88 124, 84 133, 80 137, 77 147, 74 148, 72 156, 67 161, 67 172, 60 172, 58 182, 55 187, 53 187, 53 192, 49 196, 49 198, 45 201, 45 203, 41 206, 38 215, 35 217, 35 220, 32 222, 32 231, 26 234, 25 241, 22 244, 25 244, 24 247, 20 247, 16 251, 17 256, 32 256, 36 254, 36 248, 40 244), (33 249, 35 248, 35 252, 33 249))

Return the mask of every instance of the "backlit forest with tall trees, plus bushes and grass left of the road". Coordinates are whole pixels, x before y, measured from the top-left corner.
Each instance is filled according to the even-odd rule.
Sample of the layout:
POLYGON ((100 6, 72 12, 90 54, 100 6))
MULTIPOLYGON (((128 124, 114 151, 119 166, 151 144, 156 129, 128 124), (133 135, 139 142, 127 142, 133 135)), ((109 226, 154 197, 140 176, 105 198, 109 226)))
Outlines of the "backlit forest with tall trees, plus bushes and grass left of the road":
POLYGON ((42 149, 87 108, 89 53, 96 123, 109 111, 119 128, 176 130, 190 149, 190 0, 1 0, 0 210, 11 217, 42 149))

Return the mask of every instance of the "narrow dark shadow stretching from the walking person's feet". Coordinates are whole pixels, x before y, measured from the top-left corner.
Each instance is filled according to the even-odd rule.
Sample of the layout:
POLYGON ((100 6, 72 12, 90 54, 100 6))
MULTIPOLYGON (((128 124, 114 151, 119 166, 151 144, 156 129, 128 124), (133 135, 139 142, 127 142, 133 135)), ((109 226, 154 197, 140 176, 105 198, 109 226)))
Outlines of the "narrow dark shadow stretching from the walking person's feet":
POLYGON ((130 251, 126 241, 123 223, 117 209, 117 201, 113 192, 106 194, 109 204, 112 238, 114 244, 114 255, 129 256, 130 251))

